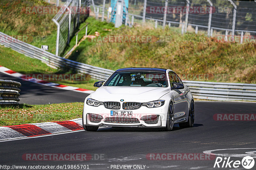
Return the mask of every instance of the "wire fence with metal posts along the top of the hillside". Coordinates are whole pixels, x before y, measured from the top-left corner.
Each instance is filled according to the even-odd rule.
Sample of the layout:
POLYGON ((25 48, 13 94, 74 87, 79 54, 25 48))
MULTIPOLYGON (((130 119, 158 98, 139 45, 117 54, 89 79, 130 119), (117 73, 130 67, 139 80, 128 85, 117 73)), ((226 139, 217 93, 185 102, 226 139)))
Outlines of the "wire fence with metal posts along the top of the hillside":
MULTIPOLYGON (((91 14, 108 20, 110 0, 92 2, 91 14)), ((178 27, 182 33, 205 31, 208 36, 256 35, 255 1, 130 0, 128 17, 130 22, 123 24, 130 26, 151 22, 154 27, 178 27)))

